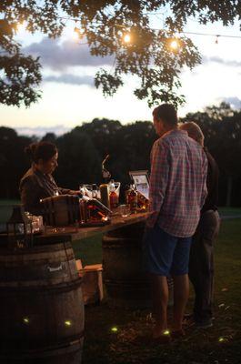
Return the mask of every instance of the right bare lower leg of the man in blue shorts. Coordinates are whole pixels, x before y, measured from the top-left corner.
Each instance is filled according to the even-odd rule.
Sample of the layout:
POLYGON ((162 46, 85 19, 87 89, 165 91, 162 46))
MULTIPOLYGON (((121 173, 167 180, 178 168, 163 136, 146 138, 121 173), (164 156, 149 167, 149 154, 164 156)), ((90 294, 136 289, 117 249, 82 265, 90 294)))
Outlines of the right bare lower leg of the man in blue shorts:
POLYGON ((174 276, 174 318, 173 329, 175 331, 182 329, 182 323, 186 308, 186 302, 189 296, 189 279, 188 275, 174 276))

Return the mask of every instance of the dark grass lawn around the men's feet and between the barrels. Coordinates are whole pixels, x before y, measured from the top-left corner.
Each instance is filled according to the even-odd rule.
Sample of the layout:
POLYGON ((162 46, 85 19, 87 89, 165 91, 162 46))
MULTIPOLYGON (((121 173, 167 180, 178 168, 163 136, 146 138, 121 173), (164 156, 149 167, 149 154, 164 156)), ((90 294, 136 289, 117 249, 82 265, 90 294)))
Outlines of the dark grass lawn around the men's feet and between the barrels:
MULTIPOLYGON (((101 262, 100 239, 82 241, 74 247, 75 254, 85 257, 85 264, 101 262)), ((225 220, 216 241, 215 324, 206 330, 186 329, 185 339, 169 345, 144 345, 138 341, 151 329, 149 310, 108 308, 105 302, 85 308, 83 363, 240 363, 240 256, 241 219, 225 220), (116 333, 112 333, 113 327, 116 333)), ((189 310, 192 301, 191 294, 189 310)))

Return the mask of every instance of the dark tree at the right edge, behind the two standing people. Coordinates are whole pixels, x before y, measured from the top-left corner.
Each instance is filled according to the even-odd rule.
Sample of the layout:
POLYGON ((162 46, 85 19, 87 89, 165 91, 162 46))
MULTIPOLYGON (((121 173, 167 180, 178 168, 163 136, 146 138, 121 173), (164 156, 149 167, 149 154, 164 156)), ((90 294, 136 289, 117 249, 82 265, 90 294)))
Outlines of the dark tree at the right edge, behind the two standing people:
MULTIPOLYGON (((201 126, 206 147, 219 166, 222 187, 223 178, 226 179, 226 206, 230 206, 234 182, 241 177, 241 112, 221 103, 206 107, 203 113, 189 113, 184 119, 201 126)), ((237 195, 240 195, 239 191, 237 195)))

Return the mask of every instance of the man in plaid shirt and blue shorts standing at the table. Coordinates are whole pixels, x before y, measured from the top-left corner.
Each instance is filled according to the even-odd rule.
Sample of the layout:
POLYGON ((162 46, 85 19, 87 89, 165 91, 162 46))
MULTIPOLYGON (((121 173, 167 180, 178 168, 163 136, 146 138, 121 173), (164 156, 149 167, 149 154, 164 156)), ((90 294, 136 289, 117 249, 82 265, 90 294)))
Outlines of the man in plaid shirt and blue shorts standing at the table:
POLYGON ((176 109, 163 104, 153 111, 156 134, 152 148, 150 215, 144 254, 150 273, 156 326, 153 338, 170 339, 166 277, 174 278, 172 337, 184 335, 182 321, 189 294, 188 258, 192 236, 206 198, 207 160, 203 148, 177 127, 176 109))

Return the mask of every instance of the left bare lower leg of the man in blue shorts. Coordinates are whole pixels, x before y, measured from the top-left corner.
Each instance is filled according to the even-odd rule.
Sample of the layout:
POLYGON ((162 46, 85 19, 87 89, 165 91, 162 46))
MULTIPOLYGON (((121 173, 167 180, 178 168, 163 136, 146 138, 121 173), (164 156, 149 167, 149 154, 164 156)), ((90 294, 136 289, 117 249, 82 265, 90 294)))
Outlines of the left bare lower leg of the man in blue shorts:
POLYGON ((153 331, 153 338, 158 338, 167 328, 167 302, 168 286, 164 276, 151 274, 151 288, 153 300, 153 313, 156 319, 156 325, 153 331))

